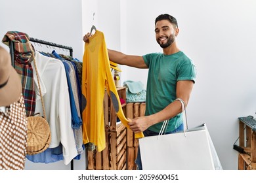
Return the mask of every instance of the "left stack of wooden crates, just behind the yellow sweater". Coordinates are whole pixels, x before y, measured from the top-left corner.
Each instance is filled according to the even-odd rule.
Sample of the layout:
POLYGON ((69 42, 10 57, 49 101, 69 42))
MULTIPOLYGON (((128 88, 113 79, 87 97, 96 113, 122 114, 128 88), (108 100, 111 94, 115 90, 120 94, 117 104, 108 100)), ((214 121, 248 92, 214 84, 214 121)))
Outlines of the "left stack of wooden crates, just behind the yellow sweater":
MULTIPOLYGON (((119 98, 126 100, 126 88, 118 87, 119 98)), ((126 103, 121 105, 126 112, 126 103)), ((106 148, 102 152, 88 152, 88 169, 124 170, 127 169, 127 129, 122 122, 117 122, 117 114, 108 93, 104 94, 104 125, 106 148)))

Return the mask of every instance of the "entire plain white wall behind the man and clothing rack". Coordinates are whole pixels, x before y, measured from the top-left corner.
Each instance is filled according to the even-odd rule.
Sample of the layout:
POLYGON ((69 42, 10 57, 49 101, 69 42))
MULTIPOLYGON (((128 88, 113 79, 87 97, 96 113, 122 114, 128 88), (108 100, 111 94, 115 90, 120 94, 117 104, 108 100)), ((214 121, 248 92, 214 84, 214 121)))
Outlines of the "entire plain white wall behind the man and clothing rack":
MULTIPOLYGON (((108 48, 138 55, 161 52, 154 37, 154 19, 163 13, 175 16, 180 28, 178 45, 194 59, 198 71, 188 105, 188 125, 206 123, 223 169, 238 168, 238 153, 232 149, 238 138, 238 117, 256 110, 255 1, 45 0, 40 4, 0 0, 0 4, 0 35, 24 31, 31 37, 72 46, 79 59, 82 37, 92 24, 104 32, 108 48), (17 19, 16 14, 26 18, 17 19)), ((121 69, 122 80, 142 80, 146 86, 146 69, 121 69)), ((69 168, 62 162, 29 168, 33 166, 69 168)))

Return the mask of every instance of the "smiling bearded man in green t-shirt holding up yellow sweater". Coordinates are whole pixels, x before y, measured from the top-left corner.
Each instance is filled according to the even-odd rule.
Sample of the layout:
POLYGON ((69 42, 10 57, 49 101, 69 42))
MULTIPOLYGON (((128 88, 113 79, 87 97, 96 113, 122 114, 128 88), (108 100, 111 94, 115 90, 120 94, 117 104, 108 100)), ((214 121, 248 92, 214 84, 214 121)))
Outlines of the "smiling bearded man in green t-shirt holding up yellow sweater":
MULTIPOLYGON (((187 105, 196 79, 194 63, 177 46, 179 27, 176 18, 169 14, 158 16, 155 33, 163 53, 131 56, 108 49, 109 59, 115 63, 149 69, 145 116, 129 122, 135 133, 143 131, 145 137, 158 135, 163 121, 168 119, 166 134, 183 130, 181 102, 175 99, 180 98, 187 105)), ((88 33, 83 40, 89 42, 89 36, 88 33)), ((142 169, 140 151, 135 162, 138 169, 142 169)))

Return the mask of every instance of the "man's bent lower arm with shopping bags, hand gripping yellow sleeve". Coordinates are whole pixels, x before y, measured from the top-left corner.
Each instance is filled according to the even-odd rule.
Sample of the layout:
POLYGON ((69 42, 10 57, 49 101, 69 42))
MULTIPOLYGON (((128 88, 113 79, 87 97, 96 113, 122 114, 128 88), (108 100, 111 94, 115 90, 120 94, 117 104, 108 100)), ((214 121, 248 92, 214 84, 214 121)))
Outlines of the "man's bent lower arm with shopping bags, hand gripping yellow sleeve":
MULTIPOLYGON (((194 82, 192 80, 180 80, 177 82, 177 98, 182 99, 186 105, 188 105, 190 93, 192 92, 193 86, 194 82)), ((133 132, 139 133, 146 130, 151 125, 173 118, 181 112, 181 102, 173 101, 173 103, 167 105, 167 107, 163 108, 163 110, 161 110, 160 112, 157 112, 150 116, 141 116, 139 118, 135 118, 131 120, 131 122, 129 122, 129 125, 133 132)))

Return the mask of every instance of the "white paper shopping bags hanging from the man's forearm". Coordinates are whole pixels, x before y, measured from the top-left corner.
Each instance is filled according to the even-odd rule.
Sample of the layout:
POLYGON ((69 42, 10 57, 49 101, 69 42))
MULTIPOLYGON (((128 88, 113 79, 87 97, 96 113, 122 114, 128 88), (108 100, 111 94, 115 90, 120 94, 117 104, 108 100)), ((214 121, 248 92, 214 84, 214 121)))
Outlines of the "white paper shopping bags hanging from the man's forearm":
MULTIPOLYGON (((139 139, 143 170, 215 170, 222 169, 205 124, 187 129, 182 103, 184 132, 139 139)), ((164 129, 166 123, 163 124, 164 129)))

